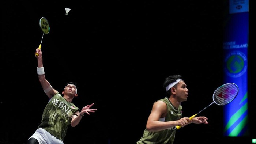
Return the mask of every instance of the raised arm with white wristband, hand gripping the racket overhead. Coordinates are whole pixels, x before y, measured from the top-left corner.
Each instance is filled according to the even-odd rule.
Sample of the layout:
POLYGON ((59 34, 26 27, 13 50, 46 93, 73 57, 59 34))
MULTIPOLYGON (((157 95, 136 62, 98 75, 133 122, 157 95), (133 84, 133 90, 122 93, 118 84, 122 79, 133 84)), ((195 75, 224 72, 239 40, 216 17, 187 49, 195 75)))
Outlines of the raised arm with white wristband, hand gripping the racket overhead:
POLYGON ((42 88, 44 89, 45 94, 50 99, 54 96, 54 94, 57 93, 57 91, 52 88, 50 83, 45 78, 45 72, 44 72, 44 67, 43 67, 42 50, 37 48, 35 50, 35 54, 38 54, 38 56, 35 55, 35 57, 37 58, 38 79, 39 79, 39 82, 42 85, 42 88))

